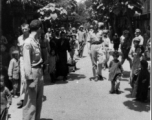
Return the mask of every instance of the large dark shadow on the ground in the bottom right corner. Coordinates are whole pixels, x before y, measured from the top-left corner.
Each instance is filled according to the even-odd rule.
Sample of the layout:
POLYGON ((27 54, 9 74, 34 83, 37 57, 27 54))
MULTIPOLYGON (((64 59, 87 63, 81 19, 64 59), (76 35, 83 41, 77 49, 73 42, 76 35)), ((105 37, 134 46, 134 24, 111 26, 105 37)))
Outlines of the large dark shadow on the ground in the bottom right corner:
POLYGON ((149 112, 150 111, 150 103, 141 103, 138 101, 125 101, 123 103, 128 109, 138 111, 138 112, 149 112))

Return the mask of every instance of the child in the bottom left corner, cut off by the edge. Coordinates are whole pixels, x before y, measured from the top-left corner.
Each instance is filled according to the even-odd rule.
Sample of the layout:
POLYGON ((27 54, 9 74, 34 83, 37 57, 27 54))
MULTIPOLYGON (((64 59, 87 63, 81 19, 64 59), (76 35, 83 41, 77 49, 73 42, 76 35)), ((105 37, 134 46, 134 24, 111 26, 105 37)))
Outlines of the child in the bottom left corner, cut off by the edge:
POLYGON ((12 103, 11 93, 4 84, 4 75, 0 75, 0 120, 6 120, 8 108, 12 103))

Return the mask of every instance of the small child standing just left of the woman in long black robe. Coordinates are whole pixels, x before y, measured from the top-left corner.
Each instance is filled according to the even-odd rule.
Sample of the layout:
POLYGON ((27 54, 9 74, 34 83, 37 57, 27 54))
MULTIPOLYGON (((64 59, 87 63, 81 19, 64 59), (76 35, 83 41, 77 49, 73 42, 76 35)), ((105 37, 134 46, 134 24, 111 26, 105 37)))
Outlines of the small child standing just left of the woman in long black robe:
POLYGON ((55 49, 51 49, 50 51, 50 64, 49 64, 49 73, 51 77, 51 83, 56 82, 56 62, 57 62, 57 56, 55 49))

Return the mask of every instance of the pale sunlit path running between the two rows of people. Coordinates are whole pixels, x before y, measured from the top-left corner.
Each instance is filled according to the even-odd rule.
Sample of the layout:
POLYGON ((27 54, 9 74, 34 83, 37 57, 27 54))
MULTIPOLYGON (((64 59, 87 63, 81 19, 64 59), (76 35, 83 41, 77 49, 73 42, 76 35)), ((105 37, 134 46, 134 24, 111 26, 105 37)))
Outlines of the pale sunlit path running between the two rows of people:
MULTIPOLYGON (((112 57, 110 57, 112 59, 112 57)), ((51 85, 45 76, 41 120, 149 120, 150 105, 133 101, 129 85, 129 62, 123 64, 124 76, 121 80, 121 94, 109 94, 110 81, 90 81, 91 60, 87 47, 77 67, 71 72, 67 82, 58 81, 51 85)), ((103 70, 108 78, 108 69, 103 70)), ((17 109, 18 99, 13 98, 9 109, 9 120, 22 120, 22 109, 17 109)))

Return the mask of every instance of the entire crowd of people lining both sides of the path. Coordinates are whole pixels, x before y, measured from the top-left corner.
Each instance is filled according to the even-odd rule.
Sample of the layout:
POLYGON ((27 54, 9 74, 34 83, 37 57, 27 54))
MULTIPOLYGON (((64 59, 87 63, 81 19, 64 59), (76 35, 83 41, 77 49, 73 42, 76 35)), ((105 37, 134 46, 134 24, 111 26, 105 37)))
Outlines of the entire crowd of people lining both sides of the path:
POLYGON ((21 25, 22 35, 13 42, 10 50, 6 51, 7 39, 1 39, 1 119, 7 115, 6 108, 11 105, 12 96, 20 98, 19 108, 24 106, 24 120, 39 120, 44 75, 50 74, 52 84, 57 80, 66 81, 70 66, 77 70, 76 58, 83 57, 85 45, 92 61, 93 77, 90 80, 105 79, 102 70, 109 69, 110 94, 119 94, 124 73, 122 65, 127 59, 131 69, 131 94, 136 100, 146 101, 150 89, 150 36, 145 40, 140 29, 136 29, 133 39, 128 30, 124 30, 122 36, 114 33, 110 39, 109 30, 104 26, 99 22, 97 27, 90 25, 89 29, 83 25, 68 30, 64 27, 47 28, 45 33, 42 23, 33 20, 30 24, 21 25), (113 60, 108 64, 110 55, 113 60), (6 98, 9 98, 8 102, 6 98))

